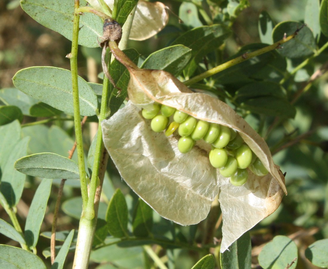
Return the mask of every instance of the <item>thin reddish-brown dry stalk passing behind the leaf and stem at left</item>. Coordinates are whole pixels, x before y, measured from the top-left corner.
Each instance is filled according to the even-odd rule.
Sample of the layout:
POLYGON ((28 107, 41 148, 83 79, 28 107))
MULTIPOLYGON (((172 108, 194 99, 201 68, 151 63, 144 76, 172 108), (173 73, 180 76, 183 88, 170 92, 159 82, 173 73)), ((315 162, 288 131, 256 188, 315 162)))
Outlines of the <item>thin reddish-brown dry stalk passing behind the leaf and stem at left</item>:
MULTIPOLYGON (((83 117, 83 120, 81 121, 81 126, 83 127, 85 122, 87 121, 87 116, 83 117)), ((76 140, 74 142, 74 145, 72 146, 71 150, 69 150, 68 159, 72 159, 73 153, 76 149, 76 140)), ((55 252, 55 246, 56 246, 56 229, 57 229, 57 218, 58 218, 58 211, 60 206, 60 200, 63 194, 63 188, 65 184, 66 179, 62 179, 60 182, 60 186, 58 189, 58 195, 56 200, 55 209, 53 212, 53 220, 51 225, 51 239, 50 239, 50 256, 51 256, 51 264, 54 263, 56 258, 56 252, 55 252)))

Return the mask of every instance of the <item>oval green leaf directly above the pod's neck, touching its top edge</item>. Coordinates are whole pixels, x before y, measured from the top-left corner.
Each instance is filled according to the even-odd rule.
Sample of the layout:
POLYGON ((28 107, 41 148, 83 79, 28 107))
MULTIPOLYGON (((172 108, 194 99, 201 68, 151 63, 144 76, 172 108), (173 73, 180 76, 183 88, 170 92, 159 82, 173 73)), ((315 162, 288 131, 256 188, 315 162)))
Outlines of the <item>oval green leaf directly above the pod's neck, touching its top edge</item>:
POLYGON ((174 76, 180 74, 191 58, 192 50, 183 45, 174 45, 155 51, 142 63, 141 68, 160 69, 174 76))

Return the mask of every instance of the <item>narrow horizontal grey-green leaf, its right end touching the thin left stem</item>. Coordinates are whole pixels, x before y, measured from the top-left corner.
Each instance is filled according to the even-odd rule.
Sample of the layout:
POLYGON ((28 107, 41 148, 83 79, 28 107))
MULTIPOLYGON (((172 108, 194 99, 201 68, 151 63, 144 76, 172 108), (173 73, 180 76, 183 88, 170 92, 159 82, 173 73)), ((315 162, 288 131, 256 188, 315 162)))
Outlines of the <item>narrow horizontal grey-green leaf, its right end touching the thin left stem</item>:
POLYGON ((47 179, 79 179, 77 163, 54 153, 37 153, 25 156, 15 162, 19 172, 47 179))

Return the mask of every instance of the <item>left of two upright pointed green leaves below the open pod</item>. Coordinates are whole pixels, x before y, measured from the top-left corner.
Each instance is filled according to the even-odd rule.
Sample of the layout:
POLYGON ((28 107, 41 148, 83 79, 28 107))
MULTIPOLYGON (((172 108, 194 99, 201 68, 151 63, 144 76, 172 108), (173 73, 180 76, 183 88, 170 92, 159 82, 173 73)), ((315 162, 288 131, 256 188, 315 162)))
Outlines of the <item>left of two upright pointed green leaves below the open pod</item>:
POLYGON ((128 206, 120 189, 115 191, 108 204, 106 221, 111 235, 115 237, 128 236, 128 206))

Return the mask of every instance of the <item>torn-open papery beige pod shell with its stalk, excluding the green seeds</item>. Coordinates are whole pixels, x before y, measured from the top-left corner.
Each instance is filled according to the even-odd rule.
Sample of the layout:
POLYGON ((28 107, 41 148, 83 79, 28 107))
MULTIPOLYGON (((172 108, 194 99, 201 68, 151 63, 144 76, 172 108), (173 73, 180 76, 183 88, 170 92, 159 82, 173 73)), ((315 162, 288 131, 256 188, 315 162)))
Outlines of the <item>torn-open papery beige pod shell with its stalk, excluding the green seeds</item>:
MULTIPOLYGON (((220 27, 225 31, 225 26, 220 27)), ((223 218, 220 251, 224 252, 241 234, 274 212, 286 192, 284 176, 266 142, 224 102, 192 92, 163 70, 140 69, 119 51, 116 42, 110 41, 109 46, 130 73, 128 104, 101 123, 104 144, 120 175, 160 215, 182 225, 206 218, 219 193, 223 218), (150 132, 149 123, 141 117, 140 108, 153 102, 183 110, 198 120, 231 126, 269 174, 252 174, 247 187, 237 188, 210 164, 210 146, 203 141, 188 154, 179 154, 175 136, 150 132)))

